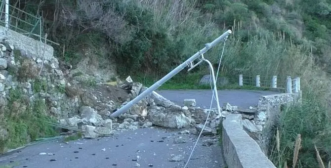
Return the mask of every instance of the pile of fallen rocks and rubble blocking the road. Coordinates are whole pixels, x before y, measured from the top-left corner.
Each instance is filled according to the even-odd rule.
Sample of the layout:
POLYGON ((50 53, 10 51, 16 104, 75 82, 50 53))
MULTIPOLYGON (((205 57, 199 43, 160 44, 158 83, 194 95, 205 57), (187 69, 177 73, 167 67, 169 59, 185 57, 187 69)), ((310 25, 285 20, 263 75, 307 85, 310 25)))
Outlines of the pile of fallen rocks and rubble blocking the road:
MULTIPOLYGON (((130 99, 147 89, 142 84, 133 82, 130 77, 125 82, 118 81, 117 84, 130 94, 130 99)), ((124 102, 122 106, 128 103, 130 99, 124 102)), ((176 129, 195 127, 197 132, 200 132, 206 122, 209 109, 202 109, 195 107, 195 105, 195 99, 185 99, 183 106, 179 106, 153 91, 133 105, 126 113, 115 119, 104 116, 104 111, 98 112, 91 107, 82 106, 78 110, 77 115, 60 120, 60 124, 82 130, 85 138, 108 136, 117 130, 151 126, 176 129)), ((113 109, 113 112, 116 110, 113 109)), ((216 134, 217 128, 222 121, 222 116, 230 113, 245 113, 243 117, 247 119, 253 118, 252 108, 240 109, 237 106, 225 103, 221 114, 219 114, 217 109, 211 109, 203 135, 216 134)), ((111 112, 108 111, 108 114, 111 114, 111 112)))

